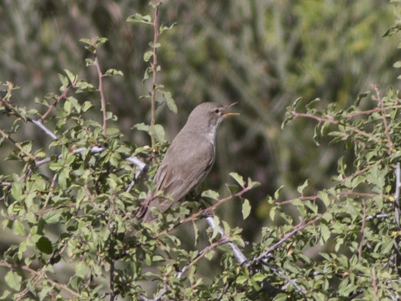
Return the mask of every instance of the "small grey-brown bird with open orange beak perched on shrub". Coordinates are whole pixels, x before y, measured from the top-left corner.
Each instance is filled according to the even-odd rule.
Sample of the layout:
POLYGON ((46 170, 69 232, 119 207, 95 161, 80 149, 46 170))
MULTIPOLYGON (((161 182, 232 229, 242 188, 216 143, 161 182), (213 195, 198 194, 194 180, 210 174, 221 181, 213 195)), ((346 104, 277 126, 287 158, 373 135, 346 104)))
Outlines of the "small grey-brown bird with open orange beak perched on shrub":
POLYGON ((162 191, 164 196, 170 196, 173 200, 151 200, 143 213, 144 222, 155 218, 149 208, 157 207, 160 212, 166 211, 206 178, 215 162, 216 134, 220 122, 226 116, 239 115, 225 112, 233 104, 223 106, 205 102, 189 114, 154 177, 157 191, 162 191))

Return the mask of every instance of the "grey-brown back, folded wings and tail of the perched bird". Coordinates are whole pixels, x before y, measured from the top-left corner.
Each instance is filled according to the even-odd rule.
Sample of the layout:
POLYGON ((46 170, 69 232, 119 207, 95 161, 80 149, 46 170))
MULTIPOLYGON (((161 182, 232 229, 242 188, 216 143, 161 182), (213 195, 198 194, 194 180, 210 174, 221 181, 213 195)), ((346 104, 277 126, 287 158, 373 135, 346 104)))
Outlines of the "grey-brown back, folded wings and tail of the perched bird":
MULTIPOLYGON (((174 143, 176 139, 173 140, 167 149, 168 160, 162 162, 154 178, 157 190, 173 199, 172 201, 157 198, 150 201, 148 207, 157 207, 160 212, 167 210, 199 185, 209 173, 215 159, 215 147, 209 140, 202 137, 196 139, 192 133, 179 134, 181 134, 180 145, 174 143), (193 140, 203 142, 193 145, 190 143, 193 140), (174 164, 172 165, 171 162, 174 164)), ((147 210, 143 219, 150 221, 153 218, 154 216, 152 217, 147 210)))

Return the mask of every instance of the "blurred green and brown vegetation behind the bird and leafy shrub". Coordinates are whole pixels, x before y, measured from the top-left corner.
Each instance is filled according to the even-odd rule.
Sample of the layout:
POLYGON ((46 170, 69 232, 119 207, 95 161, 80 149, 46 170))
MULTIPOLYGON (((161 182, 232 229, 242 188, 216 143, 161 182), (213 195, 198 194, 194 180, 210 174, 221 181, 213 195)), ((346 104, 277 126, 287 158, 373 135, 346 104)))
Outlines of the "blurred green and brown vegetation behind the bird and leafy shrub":
MULTIPOLYGON (((330 187, 343 155, 342 145, 328 146, 328 139, 315 145, 312 120, 297 119, 282 130, 286 107, 302 97, 302 110, 319 97, 322 107, 336 102, 346 108, 371 84, 398 86, 392 67, 399 59, 398 41, 382 38, 393 24, 392 10, 387 0, 163 1, 159 24, 177 26, 160 37, 158 82, 172 93, 178 113, 160 107, 156 122, 171 141, 197 104, 238 102, 235 111, 241 115, 220 128, 207 185, 227 194, 230 172, 262 183, 247 195, 252 214, 246 221, 235 201, 218 212, 232 226, 243 227, 246 240, 257 240, 260 228, 271 222, 267 195, 284 185, 282 198, 292 198, 306 179, 312 190, 330 187)), ((152 13, 148 0, 1 0, 0 80, 21 87, 13 96, 17 105, 44 112, 34 99, 59 92, 57 74, 63 69, 97 86, 95 68, 85 67, 90 54, 79 39, 106 37, 109 42, 98 52, 102 71, 124 73, 104 80, 109 110, 118 116, 113 126, 123 130, 126 140, 149 144, 148 136, 131 129, 150 120, 150 103, 139 96, 151 88, 142 78, 143 54, 153 32, 150 26, 125 22, 137 12, 152 13)), ((80 97, 92 100, 100 121, 99 96, 80 97)), ((0 122, 9 119, 1 116, 0 122)), ((37 128, 27 125, 22 134, 48 152, 48 139, 37 128)), ((6 153, 0 174, 14 168, 3 162, 6 153)))

